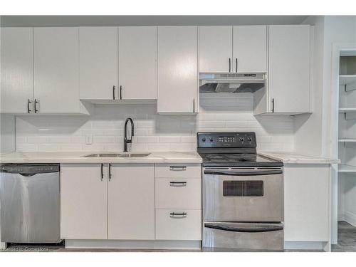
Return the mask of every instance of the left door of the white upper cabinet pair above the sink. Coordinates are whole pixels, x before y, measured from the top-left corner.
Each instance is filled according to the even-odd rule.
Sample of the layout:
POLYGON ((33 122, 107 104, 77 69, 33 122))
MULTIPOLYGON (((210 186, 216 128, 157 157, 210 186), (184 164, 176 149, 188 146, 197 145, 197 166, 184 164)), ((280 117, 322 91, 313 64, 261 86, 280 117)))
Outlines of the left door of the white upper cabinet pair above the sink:
POLYGON ((117 27, 80 27, 80 99, 117 95, 117 27))

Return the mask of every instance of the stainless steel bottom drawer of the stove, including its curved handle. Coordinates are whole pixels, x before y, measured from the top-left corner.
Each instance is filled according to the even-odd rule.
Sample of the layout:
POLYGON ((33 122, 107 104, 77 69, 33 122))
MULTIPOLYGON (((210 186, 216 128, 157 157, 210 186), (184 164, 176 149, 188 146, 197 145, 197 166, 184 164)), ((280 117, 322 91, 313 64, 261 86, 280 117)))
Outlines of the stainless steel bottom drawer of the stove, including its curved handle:
POLYGON ((280 251, 284 246, 283 224, 206 222, 202 245, 204 250, 212 251, 216 248, 280 251))

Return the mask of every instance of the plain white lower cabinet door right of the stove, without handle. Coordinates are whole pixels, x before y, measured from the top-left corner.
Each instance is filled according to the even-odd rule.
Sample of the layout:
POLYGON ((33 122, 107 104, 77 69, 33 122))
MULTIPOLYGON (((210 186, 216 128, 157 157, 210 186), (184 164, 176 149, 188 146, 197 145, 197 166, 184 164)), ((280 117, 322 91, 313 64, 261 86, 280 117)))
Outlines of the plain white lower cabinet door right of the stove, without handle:
POLYGON ((328 241, 329 165, 288 164, 284 169, 284 239, 328 241))

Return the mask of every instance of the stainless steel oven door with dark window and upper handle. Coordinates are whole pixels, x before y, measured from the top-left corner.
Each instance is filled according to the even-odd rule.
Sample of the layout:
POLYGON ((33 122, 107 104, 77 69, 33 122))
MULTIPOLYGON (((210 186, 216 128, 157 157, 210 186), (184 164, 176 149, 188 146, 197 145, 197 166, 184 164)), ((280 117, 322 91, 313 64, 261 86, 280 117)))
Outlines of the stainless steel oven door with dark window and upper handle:
POLYGON ((204 221, 283 221, 281 168, 204 169, 204 221))

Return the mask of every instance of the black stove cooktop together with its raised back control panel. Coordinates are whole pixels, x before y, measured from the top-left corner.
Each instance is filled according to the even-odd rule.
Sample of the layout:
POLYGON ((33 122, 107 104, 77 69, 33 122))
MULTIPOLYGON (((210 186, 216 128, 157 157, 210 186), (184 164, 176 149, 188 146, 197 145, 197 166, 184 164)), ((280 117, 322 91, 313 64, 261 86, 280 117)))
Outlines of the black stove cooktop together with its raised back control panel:
POLYGON ((254 132, 198 132, 204 167, 281 167, 283 162, 256 153, 254 132))

